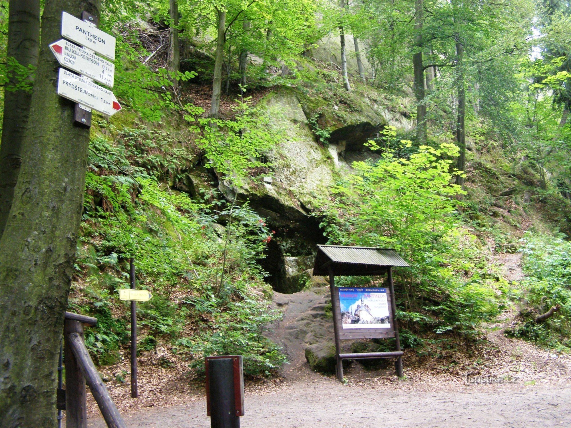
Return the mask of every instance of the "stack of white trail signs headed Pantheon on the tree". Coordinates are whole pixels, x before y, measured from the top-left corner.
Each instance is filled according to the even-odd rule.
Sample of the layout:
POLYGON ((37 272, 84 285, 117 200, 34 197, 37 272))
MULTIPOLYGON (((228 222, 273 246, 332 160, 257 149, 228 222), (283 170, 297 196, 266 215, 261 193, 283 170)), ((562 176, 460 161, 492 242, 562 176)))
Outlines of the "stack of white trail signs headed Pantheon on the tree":
POLYGON ((86 11, 81 19, 63 12, 62 36, 67 40, 50 45, 55 58, 65 67, 59 69, 58 95, 78 103, 74 120, 86 127, 91 126, 92 109, 108 116, 121 110, 113 92, 93 82, 112 88, 115 74, 114 64, 107 60, 115 59, 115 38, 99 30, 96 24, 96 18, 86 11))

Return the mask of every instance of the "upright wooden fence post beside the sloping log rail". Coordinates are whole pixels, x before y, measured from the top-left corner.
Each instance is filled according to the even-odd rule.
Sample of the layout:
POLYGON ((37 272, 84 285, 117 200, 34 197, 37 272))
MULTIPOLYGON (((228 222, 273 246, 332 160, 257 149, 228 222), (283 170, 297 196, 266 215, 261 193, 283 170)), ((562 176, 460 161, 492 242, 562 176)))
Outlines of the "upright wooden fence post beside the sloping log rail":
POLYGON ((66 319, 64 327, 64 352, 66 356, 66 428, 87 428, 87 404, 85 378, 70 346, 70 334, 76 333, 83 340, 81 321, 66 319))

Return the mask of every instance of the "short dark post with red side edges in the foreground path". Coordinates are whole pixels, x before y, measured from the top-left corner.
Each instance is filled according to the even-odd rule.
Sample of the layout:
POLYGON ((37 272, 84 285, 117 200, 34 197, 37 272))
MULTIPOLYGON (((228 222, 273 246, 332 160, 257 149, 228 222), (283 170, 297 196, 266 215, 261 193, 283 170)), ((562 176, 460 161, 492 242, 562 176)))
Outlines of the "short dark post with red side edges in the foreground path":
POLYGON ((211 428, 240 428, 236 412, 234 361, 232 358, 208 360, 211 428))

